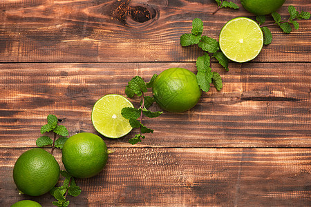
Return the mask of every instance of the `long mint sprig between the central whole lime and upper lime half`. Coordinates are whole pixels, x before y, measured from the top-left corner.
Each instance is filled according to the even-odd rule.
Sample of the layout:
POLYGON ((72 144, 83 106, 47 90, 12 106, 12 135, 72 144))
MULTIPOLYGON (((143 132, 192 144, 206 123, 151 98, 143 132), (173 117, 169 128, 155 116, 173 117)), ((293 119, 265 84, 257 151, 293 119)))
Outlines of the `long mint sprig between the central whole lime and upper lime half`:
POLYGON ((202 35, 203 22, 201 19, 194 19, 192 21, 191 34, 182 34, 180 37, 181 46, 190 46, 197 44, 199 48, 205 51, 203 56, 198 57, 196 61, 196 68, 198 70, 196 79, 201 90, 208 92, 210 83, 213 83, 216 90, 223 88, 223 81, 217 72, 211 71, 211 57, 214 57, 221 66, 229 71, 228 59, 220 51, 219 43, 216 39, 202 35), (191 37, 191 38, 189 38, 191 37), (198 41, 194 41, 198 40, 198 41), (214 75, 215 74, 215 75, 214 75), (217 75, 216 75, 217 74, 217 75))

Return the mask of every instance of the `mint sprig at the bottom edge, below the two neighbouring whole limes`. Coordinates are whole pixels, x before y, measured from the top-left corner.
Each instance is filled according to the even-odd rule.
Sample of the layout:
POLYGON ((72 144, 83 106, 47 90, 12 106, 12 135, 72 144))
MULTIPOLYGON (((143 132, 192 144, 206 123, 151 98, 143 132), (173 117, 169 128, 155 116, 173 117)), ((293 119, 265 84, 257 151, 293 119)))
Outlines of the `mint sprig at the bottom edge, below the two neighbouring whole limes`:
POLYGON ((53 195, 57 201, 53 201, 54 206, 67 207, 69 201, 66 199, 67 195, 78 196, 81 193, 81 188, 75 183, 75 179, 66 171, 61 170, 61 175, 65 177, 63 185, 54 187, 50 190, 50 195, 53 195))

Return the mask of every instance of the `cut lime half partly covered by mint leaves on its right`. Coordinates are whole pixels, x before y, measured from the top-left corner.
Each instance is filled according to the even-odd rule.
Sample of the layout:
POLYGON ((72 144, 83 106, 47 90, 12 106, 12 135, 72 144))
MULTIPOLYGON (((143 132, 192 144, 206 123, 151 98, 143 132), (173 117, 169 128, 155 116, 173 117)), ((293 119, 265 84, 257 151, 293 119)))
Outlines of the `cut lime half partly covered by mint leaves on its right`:
POLYGON ((120 138, 131 132, 129 120, 121 115, 124 107, 133 107, 133 104, 122 95, 105 95, 96 101, 92 110, 95 130, 109 138, 120 138))

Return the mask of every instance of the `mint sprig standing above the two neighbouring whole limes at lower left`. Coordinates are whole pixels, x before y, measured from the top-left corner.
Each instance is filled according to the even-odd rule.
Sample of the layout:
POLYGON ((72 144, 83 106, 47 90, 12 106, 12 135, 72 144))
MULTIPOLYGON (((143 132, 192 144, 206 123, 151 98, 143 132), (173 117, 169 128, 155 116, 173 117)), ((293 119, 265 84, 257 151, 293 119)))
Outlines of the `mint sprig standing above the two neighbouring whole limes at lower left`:
POLYGON ((54 132, 54 138, 50 139, 48 136, 39 137, 36 141, 38 147, 52 146, 50 154, 53 154, 55 148, 63 148, 65 141, 69 135, 66 126, 59 125, 62 119, 57 119, 55 115, 48 115, 47 122, 44 126, 41 126, 40 132, 44 134, 46 132, 54 132), (57 135, 61 136, 56 139, 57 135))

